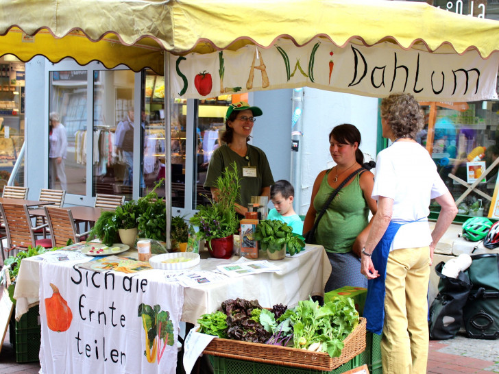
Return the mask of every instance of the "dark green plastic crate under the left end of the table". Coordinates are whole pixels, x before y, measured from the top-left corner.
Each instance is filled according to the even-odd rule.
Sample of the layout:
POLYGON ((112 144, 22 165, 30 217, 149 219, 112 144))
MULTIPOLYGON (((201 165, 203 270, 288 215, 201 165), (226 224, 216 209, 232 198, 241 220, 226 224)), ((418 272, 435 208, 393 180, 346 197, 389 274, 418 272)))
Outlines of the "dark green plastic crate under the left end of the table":
POLYGON ((29 308, 19 322, 15 322, 16 330, 16 362, 36 362, 39 360, 41 327, 39 324, 38 306, 29 308))

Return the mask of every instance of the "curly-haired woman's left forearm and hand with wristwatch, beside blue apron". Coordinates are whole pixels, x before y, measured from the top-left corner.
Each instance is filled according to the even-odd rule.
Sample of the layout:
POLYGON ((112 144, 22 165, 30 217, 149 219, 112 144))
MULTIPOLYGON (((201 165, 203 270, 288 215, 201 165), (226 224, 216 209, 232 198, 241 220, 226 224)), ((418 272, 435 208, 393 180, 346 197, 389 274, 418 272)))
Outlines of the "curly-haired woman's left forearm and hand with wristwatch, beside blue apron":
MULTIPOLYGON (((378 211, 376 216, 371 220, 372 226, 369 230, 369 236, 365 242, 365 251, 367 253, 372 253, 378 242, 382 238, 387 227, 391 221, 391 214, 393 213, 393 199, 389 197, 380 196, 378 200, 378 211)), ((368 279, 374 279, 379 277, 378 271, 374 269, 372 260, 367 255, 362 255, 361 258, 361 273, 365 275, 368 279)))

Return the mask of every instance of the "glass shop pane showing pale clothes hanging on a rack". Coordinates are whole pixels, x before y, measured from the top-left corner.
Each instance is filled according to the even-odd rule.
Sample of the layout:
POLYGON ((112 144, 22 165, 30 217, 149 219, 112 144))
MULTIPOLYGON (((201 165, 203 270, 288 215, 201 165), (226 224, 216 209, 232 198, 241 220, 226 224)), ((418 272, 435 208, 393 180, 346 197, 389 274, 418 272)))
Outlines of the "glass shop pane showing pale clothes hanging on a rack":
MULTIPOLYGON (((132 199, 134 175, 134 73, 94 71, 93 195, 125 195, 132 199)), ((143 132, 145 123, 141 121, 143 132)), ((77 136, 86 136, 85 130, 77 136)), ((140 183, 144 186, 143 177, 140 183)))

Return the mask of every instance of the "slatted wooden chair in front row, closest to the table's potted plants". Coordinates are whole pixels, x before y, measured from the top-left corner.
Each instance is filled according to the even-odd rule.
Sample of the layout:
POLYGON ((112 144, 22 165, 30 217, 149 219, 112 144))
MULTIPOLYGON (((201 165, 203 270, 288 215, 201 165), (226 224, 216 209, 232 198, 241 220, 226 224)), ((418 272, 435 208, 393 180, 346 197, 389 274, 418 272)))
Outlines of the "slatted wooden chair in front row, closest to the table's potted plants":
POLYGON ((52 247, 66 247, 69 239, 77 243, 88 235, 88 232, 78 234, 71 210, 53 205, 45 205, 43 209, 50 227, 52 247))

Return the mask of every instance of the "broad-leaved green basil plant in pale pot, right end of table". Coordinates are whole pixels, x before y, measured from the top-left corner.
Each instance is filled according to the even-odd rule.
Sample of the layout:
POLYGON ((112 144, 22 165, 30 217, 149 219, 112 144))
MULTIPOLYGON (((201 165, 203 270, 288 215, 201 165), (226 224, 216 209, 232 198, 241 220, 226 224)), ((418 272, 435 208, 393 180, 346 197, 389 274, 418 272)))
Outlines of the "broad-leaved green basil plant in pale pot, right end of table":
POLYGON ((276 219, 264 219, 256 225, 255 239, 260 241, 270 260, 282 260, 286 250, 294 255, 305 247, 303 238, 293 234, 293 229, 287 223, 276 219))

